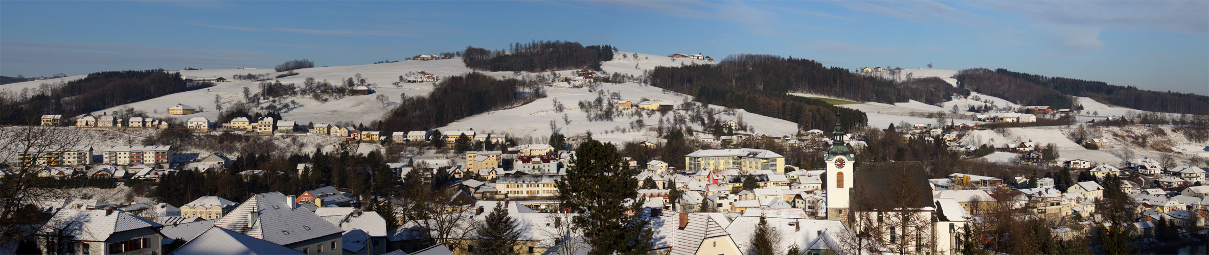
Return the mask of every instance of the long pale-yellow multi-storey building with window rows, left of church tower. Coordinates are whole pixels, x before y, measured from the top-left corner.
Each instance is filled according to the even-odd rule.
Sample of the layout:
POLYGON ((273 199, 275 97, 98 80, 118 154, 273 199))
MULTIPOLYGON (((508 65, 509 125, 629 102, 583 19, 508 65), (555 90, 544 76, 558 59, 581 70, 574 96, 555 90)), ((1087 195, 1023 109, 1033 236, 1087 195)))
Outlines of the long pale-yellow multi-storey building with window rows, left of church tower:
POLYGON ((783 174, 785 156, 759 149, 698 150, 684 156, 684 167, 694 173, 701 169, 721 170, 739 167, 740 170, 771 170, 783 174))

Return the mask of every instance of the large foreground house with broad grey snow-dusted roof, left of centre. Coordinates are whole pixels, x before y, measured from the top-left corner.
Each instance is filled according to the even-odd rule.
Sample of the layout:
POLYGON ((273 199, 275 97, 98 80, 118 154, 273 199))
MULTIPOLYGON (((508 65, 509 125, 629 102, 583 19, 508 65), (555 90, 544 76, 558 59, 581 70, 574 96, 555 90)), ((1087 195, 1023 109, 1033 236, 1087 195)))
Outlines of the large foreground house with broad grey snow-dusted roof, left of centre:
POLYGON ((214 227, 268 240, 303 254, 343 254, 343 230, 299 207, 293 196, 280 192, 253 195, 214 222, 214 227))

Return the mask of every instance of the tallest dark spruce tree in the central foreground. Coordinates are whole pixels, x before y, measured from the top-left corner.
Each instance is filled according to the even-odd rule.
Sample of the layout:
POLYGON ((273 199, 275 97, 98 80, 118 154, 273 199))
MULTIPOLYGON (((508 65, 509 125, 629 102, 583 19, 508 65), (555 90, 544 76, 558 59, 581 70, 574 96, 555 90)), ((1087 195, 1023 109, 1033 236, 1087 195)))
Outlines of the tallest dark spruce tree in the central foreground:
POLYGON ((562 207, 578 213, 575 228, 591 244, 590 254, 644 254, 654 232, 648 222, 627 211, 641 211, 637 170, 630 169, 617 146, 588 140, 575 149, 575 164, 557 180, 562 207), (626 207, 625 204, 630 204, 626 207))

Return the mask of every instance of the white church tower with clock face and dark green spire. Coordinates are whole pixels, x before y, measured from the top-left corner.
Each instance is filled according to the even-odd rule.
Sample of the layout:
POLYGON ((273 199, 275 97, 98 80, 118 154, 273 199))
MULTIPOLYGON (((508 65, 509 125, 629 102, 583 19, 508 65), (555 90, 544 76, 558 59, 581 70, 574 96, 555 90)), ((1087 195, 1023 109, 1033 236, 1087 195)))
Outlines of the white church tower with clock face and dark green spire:
POLYGON ((844 129, 839 124, 839 112, 835 114, 835 131, 832 132, 832 146, 823 161, 827 162, 827 219, 848 224, 849 203, 851 202, 852 164, 856 158, 844 143, 844 129))

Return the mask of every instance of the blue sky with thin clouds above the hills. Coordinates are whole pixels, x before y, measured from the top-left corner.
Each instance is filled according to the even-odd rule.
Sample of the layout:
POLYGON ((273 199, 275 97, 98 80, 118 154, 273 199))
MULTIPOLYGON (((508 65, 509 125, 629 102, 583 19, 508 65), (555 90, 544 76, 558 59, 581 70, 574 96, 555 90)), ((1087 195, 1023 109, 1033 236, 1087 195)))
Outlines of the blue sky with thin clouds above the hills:
POLYGON ((0 75, 370 64, 609 44, 826 65, 1005 68, 1209 94, 1209 1, 0 1, 0 75))

